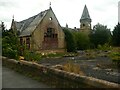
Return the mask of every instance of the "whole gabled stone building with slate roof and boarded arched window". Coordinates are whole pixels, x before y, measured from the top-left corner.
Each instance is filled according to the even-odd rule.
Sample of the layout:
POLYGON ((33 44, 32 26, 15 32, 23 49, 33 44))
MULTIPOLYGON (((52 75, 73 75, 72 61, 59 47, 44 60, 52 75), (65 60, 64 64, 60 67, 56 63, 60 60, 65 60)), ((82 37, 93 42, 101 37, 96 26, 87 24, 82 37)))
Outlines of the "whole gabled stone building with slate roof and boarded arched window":
POLYGON ((13 19, 11 28, 20 31, 20 44, 29 50, 65 50, 65 35, 51 7, 20 22, 13 19))

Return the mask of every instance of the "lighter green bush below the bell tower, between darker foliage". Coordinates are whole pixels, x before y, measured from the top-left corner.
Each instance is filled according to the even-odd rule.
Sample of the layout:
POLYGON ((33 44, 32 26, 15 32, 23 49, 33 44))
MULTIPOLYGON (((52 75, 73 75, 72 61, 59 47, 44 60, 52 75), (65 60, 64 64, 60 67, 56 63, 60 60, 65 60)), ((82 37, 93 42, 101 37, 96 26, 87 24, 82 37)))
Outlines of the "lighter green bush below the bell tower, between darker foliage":
POLYGON ((73 35, 77 50, 85 50, 90 47, 90 40, 87 34, 82 32, 74 32, 73 35))

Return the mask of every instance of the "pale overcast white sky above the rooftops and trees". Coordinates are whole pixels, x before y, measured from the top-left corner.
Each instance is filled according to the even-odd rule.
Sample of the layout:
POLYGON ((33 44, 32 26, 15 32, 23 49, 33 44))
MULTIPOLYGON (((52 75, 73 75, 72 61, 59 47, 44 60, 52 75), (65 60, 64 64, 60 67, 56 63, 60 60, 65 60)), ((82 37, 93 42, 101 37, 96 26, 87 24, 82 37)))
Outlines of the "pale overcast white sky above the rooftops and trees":
POLYGON ((87 5, 92 26, 97 23, 107 25, 111 30, 118 23, 119 0, 0 0, 0 21, 10 28, 15 21, 22 21, 51 7, 61 26, 80 28, 80 18, 87 5))

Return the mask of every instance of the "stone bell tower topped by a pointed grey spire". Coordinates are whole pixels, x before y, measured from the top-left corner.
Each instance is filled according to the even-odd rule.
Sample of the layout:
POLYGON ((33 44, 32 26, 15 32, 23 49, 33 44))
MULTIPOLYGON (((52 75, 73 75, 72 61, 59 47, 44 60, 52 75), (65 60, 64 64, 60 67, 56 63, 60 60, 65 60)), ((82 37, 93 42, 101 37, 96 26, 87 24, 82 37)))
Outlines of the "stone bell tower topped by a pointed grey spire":
POLYGON ((85 5, 80 19, 80 32, 89 34, 91 31, 91 21, 87 6, 85 5))

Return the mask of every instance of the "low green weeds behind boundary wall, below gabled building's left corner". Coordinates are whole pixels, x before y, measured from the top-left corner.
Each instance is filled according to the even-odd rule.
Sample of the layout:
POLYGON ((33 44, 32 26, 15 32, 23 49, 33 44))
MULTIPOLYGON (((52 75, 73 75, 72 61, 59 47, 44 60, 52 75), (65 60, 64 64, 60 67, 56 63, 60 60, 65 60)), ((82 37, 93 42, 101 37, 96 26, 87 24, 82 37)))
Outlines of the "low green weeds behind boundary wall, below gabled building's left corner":
POLYGON ((24 58, 27 61, 39 61, 41 60, 42 55, 39 53, 31 52, 29 50, 24 50, 24 58))

